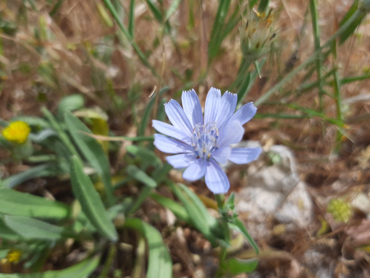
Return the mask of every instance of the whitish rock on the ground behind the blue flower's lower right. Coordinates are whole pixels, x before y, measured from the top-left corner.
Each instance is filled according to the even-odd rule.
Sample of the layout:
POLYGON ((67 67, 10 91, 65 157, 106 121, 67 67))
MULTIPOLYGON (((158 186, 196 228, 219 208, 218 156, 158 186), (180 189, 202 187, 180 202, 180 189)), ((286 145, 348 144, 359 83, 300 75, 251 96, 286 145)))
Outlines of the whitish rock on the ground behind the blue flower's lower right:
MULTIPOLYGON (((240 142, 237 147, 259 146, 254 142, 240 142)), ((300 227, 306 227, 313 216, 312 200, 306 184, 297 175, 293 153, 280 145, 271 146, 269 152, 279 155, 280 162, 266 165, 259 159, 246 166, 248 186, 235 195, 235 208, 252 235, 261 236, 268 232, 266 220, 269 216, 280 223, 300 227)))

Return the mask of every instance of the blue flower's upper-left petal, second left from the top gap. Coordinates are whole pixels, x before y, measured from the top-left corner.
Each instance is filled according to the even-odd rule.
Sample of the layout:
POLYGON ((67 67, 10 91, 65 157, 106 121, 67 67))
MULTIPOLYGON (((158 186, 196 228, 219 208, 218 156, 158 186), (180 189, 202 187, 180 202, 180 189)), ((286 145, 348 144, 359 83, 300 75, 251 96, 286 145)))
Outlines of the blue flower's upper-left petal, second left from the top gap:
POLYGON ((164 105, 164 110, 169 121, 175 128, 183 130, 189 136, 192 134, 193 128, 189 119, 186 117, 184 110, 176 100, 169 100, 169 102, 164 105))

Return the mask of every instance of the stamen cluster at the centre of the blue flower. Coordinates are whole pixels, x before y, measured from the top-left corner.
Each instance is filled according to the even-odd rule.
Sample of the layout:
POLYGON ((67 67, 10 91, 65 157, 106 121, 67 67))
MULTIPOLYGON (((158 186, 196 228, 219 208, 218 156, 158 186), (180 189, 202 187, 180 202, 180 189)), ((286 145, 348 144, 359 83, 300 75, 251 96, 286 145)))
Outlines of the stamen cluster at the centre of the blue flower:
POLYGON ((215 123, 195 125, 191 145, 196 155, 203 158, 210 158, 211 152, 218 149, 217 138, 218 129, 215 123))

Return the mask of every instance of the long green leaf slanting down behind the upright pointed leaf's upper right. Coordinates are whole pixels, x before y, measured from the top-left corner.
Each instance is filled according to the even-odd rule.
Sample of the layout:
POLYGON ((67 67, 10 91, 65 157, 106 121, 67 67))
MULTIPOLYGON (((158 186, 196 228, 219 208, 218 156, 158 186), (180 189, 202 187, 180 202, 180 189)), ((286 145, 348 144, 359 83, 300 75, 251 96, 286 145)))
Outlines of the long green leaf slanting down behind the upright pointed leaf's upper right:
POLYGON ((83 131, 91 134, 90 129, 88 129, 87 126, 85 126, 85 124, 71 112, 66 112, 64 119, 74 142, 87 161, 97 171, 98 175, 101 176, 109 205, 113 205, 114 192, 111 182, 110 164, 102 146, 94 138, 80 132, 83 131))

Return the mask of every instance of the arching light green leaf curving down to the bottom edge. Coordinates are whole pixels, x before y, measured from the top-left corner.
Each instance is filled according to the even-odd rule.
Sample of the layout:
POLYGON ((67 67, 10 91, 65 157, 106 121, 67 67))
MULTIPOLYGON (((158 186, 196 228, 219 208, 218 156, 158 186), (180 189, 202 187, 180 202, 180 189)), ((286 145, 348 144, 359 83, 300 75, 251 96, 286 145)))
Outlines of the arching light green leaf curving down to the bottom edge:
MULTIPOLYGON (((129 218, 125 227, 140 231, 147 239, 149 246, 148 278, 171 278, 172 261, 169 252, 164 245, 162 235, 157 229, 143 222, 139 218, 129 218)), ((1 278, 1 277, 0 277, 1 278)))

